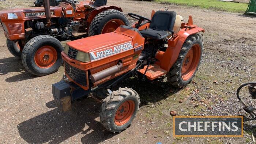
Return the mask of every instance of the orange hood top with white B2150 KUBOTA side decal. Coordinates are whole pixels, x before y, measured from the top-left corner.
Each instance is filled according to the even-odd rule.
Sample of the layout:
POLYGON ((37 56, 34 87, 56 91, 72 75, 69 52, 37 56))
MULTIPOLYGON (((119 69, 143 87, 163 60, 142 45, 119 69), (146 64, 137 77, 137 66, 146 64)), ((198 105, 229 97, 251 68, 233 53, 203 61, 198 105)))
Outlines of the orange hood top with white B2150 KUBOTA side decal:
POLYGON ((67 42, 72 49, 90 53, 91 61, 133 49, 132 38, 118 33, 106 33, 67 42))

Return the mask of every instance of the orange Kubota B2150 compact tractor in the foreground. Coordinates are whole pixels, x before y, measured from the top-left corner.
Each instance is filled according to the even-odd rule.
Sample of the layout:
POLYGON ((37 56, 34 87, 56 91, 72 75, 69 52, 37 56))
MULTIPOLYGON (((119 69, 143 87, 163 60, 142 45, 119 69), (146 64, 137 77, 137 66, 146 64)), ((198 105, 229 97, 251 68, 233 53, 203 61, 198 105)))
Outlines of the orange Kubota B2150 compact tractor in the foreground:
POLYGON ((61 53, 64 78, 52 85, 54 101, 63 111, 88 95, 102 103, 100 121, 111 132, 126 129, 140 105, 132 88, 114 90, 118 82, 167 75, 172 86, 184 87, 195 76, 203 52, 199 32, 204 29, 193 24, 191 16, 184 23, 173 11, 153 11, 151 19, 128 15, 138 19, 132 27, 122 25, 112 33, 67 42, 61 53))

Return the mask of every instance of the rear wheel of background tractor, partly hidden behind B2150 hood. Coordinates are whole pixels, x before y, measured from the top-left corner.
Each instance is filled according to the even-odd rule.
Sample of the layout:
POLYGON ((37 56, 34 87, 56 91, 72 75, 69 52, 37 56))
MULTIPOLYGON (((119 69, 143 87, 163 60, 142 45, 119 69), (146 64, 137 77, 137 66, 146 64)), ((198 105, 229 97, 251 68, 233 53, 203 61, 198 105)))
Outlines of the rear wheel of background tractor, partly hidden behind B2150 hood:
POLYGON ((121 25, 130 25, 122 12, 114 9, 105 10, 94 17, 89 27, 88 36, 110 33, 121 25))

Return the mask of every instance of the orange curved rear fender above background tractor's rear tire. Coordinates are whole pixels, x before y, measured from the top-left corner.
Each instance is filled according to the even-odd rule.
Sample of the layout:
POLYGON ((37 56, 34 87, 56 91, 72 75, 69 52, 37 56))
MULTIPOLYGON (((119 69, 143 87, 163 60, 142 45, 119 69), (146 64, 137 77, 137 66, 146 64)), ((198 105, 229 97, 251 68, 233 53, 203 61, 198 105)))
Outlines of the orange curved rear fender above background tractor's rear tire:
POLYGON ((91 21, 93 21, 94 17, 97 14, 99 14, 102 11, 109 10, 109 9, 114 9, 114 10, 118 10, 118 11, 121 11, 121 12, 123 11, 121 9, 121 7, 116 7, 116 6, 113 6, 113 5, 103 5, 101 7, 97 7, 93 11, 91 11, 91 13, 89 14, 88 19, 87 19, 87 26, 90 26, 91 21))

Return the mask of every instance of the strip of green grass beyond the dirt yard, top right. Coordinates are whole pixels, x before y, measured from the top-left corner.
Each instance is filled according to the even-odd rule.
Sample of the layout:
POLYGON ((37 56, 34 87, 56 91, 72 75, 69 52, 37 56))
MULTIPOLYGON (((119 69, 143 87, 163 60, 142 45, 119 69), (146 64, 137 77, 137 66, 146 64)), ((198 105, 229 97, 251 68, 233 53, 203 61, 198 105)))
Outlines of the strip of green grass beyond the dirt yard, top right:
POLYGON ((248 7, 245 3, 232 3, 224 2, 219 0, 156 0, 162 3, 173 3, 188 5, 191 7, 207 8, 212 10, 221 10, 229 12, 240 12, 244 13, 248 7))

